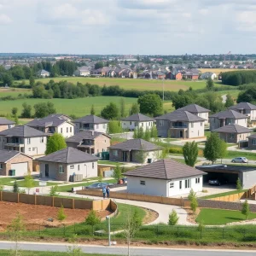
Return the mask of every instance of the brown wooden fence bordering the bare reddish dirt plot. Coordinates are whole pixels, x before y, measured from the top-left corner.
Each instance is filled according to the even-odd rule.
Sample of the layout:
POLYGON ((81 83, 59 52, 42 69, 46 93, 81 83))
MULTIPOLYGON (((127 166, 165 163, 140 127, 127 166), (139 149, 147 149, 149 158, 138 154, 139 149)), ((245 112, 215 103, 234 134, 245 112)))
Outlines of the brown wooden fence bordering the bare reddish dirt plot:
POLYGON ((10 201, 15 203, 24 203, 30 205, 41 205, 49 207, 61 207, 69 209, 83 209, 83 210, 117 210, 116 204, 109 200, 86 201, 74 198, 61 198, 57 196, 46 195, 26 195, 19 193, 0 192, 0 201, 10 201))

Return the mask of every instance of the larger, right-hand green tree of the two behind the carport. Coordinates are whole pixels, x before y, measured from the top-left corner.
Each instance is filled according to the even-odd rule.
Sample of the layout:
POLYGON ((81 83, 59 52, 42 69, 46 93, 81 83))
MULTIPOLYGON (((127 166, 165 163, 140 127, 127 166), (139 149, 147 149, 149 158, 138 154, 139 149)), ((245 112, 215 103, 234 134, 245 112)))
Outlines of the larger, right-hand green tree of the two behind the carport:
POLYGON ((212 161, 212 164, 218 159, 223 158, 226 154, 226 143, 222 141, 216 132, 212 132, 207 137, 207 142, 204 148, 204 157, 212 161))

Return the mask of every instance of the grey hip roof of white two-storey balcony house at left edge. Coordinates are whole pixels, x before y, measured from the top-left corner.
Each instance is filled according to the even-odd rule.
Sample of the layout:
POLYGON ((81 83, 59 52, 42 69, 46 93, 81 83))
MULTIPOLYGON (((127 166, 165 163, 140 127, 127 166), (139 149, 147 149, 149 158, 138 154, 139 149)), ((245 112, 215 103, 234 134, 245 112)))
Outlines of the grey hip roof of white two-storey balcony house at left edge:
POLYGON ((17 125, 8 130, 4 130, 0 132, 0 136, 8 136, 8 137, 45 137, 43 131, 38 131, 32 127, 26 125, 17 125))

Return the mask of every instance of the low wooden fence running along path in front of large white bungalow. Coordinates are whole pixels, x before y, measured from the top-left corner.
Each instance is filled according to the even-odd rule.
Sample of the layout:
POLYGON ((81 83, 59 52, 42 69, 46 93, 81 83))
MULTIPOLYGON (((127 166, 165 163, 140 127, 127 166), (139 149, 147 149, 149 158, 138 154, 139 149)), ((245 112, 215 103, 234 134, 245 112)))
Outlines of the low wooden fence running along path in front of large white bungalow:
MULTIPOLYGON (((94 196, 102 196, 101 190, 96 189, 83 189, 76 192, 79 195, 94 195, 94 196)), ((182 198, 170 198, 164 196, 153 196, 153 195, 140 195, 140 194, 130 194, 130 193, 120 193, 120 192, 110 192, 111 198, 117 199, 125 199, 131 201, 147 201, 153 203, 160 203, 166 205, 174 205, 183 207, 183 199, 182 198)))

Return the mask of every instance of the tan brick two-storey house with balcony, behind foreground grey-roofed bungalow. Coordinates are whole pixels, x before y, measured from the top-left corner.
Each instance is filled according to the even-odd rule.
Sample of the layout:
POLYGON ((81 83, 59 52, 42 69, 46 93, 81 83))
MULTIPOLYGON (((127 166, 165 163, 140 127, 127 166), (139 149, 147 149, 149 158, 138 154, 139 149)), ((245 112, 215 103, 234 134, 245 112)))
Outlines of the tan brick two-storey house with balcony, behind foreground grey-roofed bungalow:
POLYGON ((88 154, 101 154, 108 151, 110 139, 107 134, 98 131, 80 131, 66 140, 67 147, 77 148, 88 154))

